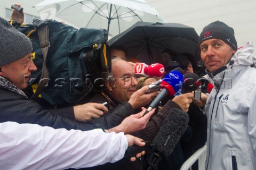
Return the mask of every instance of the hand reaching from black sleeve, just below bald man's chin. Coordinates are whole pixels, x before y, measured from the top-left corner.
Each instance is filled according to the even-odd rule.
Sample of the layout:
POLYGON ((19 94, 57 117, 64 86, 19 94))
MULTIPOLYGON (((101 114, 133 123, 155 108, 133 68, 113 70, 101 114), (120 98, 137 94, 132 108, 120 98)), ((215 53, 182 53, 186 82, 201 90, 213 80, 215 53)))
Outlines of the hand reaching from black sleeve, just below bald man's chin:
POLYGON ((150 94, 145 94, 148 89, 148 86, 144 86, 131 95, 128 102, 132 105, 133 109, 148 105, 158 94, 158 91, 151 92, 150 94))

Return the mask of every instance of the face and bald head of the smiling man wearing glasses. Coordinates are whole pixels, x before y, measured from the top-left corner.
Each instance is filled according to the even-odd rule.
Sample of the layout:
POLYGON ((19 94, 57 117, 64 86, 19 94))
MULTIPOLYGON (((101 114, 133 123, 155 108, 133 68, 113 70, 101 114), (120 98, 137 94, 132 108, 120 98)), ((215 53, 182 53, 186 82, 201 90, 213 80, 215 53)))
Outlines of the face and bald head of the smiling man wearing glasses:
POLYGON ((115 81, 107 82, 107 89, 119 101, 129 101, 138 84, 132 65, 124 60, 116 60, 112 63, 111 73, 115 81))

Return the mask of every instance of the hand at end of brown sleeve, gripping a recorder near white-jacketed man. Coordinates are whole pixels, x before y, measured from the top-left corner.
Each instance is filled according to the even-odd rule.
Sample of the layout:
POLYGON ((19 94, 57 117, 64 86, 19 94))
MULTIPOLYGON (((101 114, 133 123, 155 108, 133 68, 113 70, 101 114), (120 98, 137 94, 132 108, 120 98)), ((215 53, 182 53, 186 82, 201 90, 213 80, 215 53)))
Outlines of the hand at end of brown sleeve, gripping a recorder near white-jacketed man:
POLYGON ((184 112, 188 112, 190 103, 193 101, 194 95, 191 92, 175 96, 172 101, 177 103, 184 112))

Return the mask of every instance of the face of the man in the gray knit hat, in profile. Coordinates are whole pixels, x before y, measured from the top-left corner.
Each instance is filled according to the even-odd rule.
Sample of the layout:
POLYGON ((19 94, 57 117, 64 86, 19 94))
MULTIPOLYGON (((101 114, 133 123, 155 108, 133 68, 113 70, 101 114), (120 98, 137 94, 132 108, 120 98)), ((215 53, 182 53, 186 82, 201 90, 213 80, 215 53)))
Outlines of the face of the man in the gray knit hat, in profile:
POLYGON ((31 53, 10 64, 1 66, 0 75, 9 79, 15 86, 23 90, 27 88, 31 72, 36 71, 36 66, 31 59, 31 53))

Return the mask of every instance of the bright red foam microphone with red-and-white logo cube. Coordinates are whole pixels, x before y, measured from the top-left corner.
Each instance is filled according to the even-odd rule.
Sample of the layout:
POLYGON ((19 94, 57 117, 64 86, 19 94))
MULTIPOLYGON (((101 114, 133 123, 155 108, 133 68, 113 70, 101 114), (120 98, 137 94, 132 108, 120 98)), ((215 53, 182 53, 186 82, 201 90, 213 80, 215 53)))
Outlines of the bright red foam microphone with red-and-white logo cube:
POLYGON ((159 63, 147 65, 145 63, 135 63, 135 74, 145 77, 162 77, 164 75, 164 66, 159 63))

